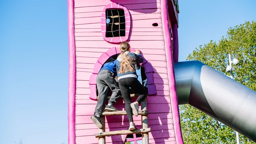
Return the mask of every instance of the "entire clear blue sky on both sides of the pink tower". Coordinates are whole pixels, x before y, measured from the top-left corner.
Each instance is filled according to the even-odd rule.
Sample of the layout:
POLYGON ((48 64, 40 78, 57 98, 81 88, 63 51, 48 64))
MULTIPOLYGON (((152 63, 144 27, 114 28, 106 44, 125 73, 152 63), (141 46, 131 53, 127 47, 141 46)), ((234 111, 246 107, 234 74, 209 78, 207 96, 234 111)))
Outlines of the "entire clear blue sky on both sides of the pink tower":
MULTIPOLYGON (((255 20, 256 1, 179 1, 179 61, 255 20)), ((67 1, 1 1, 0 143, 67 141, 67 1)))

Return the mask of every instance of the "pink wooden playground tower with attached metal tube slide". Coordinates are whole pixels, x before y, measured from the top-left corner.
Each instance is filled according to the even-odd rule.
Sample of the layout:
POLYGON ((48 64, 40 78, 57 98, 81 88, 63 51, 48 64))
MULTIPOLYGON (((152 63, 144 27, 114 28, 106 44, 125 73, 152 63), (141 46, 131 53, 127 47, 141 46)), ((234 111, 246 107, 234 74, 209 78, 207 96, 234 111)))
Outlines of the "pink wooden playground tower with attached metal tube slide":
MULTIPOLYGON (((151 131, 134 133, 129 140, 126 134, 101 140, 117 144, 147 136, 149 143, 182 144, 179 102, 256 141, 255 92, 198 61, 178 62, 178 13, 175 0, 68 0, 69 144, 99 143, 98 128, 90 119, 97 104, 95 78, 105 61, 120 53, 123 41, 145 58, 141 73, 148 81, 146 120, 151 131), (225 88, 227 83, 235 90, 225 88)), ((115 107, 124 110, 124 101, 115 107)), ((135 127, 143 128, 143 116, 133 118, 135 127)), ((105 117, 106 132, 128 126, 125 115, 105 117)))

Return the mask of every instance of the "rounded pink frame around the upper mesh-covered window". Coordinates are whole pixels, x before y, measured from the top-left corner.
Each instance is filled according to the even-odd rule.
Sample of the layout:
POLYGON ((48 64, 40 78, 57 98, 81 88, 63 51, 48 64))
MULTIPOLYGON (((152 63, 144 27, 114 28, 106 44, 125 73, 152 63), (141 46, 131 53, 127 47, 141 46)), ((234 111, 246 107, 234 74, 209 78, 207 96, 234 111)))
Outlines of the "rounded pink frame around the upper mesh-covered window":
POLYGON ((102 32, 102 36, 104 37, 104 40, 106 40, 109 43, 125 42, 129 38, 130 28, 131 28, 131 17, 130 17, 130 13, 129 13, 128 9, 125 6, 123 6, 119 3, 110 3, 103 8, 102 15, 101 15, 101 32, 102 32), (109 10, 109 9, 123 9, 124 10, 125 36, 106 37, 106 10, 109 10))

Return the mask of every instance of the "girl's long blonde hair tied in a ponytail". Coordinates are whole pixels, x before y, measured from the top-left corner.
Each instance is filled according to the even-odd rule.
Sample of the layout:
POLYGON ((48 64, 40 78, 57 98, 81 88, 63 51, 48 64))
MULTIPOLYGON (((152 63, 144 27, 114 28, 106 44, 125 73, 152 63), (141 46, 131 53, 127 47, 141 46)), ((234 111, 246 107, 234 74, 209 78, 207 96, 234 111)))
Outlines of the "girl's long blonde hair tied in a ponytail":
POLYGON ((125 51, 129 51, 130 49, 130 44, 127 42, 122 42, 120 44, 120 51, 121 51, 121 64, 120 64, 120 69, 118 71, 119 74, 127 73, 127 72, 134 72, 134 61, 135 58, 131 58, 126 55, 125 51))

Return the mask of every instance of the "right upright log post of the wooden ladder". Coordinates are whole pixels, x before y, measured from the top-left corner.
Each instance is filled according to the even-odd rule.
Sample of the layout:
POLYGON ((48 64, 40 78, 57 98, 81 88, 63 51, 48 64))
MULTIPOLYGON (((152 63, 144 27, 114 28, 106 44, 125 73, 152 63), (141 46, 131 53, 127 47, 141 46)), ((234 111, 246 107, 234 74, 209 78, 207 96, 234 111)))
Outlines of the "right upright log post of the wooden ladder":
MULTIPOLYGON (((147 98, 145 98, 142 102, 141 102, 141 109, 142 110, 147 110, 147 98)), ((147 115, 145 116, 141 116, 141 125, 143 129, 148 128, 148 119, 147 119, 147 115)), ((148 140, 148 132, 147 133, 142 133, 142 144, 149 144, 149 140, 148 140)))

